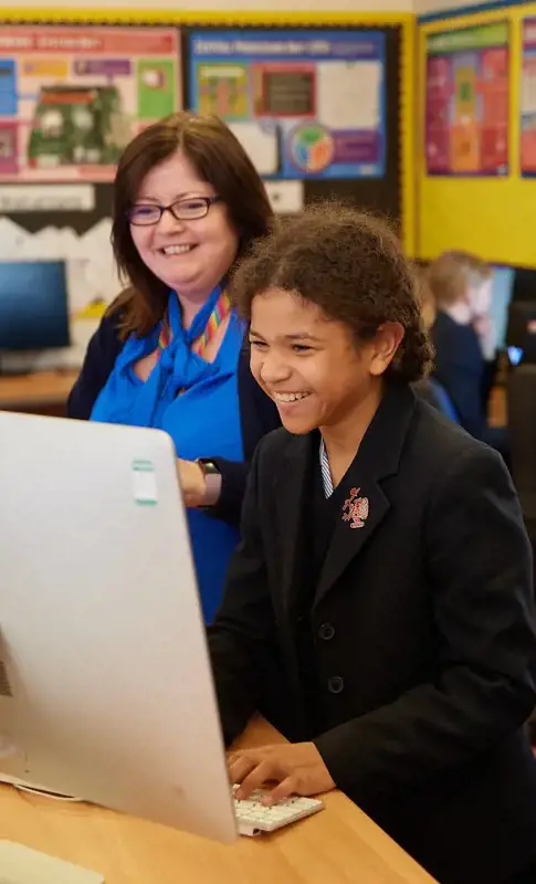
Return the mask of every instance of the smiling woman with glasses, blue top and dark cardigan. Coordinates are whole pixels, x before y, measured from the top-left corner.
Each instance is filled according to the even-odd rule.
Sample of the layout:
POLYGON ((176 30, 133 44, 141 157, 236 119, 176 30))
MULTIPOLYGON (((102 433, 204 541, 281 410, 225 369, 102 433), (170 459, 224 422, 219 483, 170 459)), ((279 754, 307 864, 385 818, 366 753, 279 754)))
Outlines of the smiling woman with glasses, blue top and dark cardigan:
POLYGON ((248 462, 280 424, 251 377, 225 291, 272 209, 231 130, 180 113, 126 148, 113 215, 116 261, 130 285, 90 344, 69 414, 171 435, 210 622, 239 539, 248 462))

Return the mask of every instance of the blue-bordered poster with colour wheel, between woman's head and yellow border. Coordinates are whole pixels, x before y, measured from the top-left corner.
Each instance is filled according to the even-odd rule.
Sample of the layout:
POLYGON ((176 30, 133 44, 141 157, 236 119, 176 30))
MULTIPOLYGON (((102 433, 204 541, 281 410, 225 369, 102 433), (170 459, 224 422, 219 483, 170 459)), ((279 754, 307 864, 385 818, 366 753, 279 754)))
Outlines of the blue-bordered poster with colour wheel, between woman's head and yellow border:
POLYGON ((385 36, 365 31, 195 31, 190 106, 232 128, 261 175, 385 172, 385 36))

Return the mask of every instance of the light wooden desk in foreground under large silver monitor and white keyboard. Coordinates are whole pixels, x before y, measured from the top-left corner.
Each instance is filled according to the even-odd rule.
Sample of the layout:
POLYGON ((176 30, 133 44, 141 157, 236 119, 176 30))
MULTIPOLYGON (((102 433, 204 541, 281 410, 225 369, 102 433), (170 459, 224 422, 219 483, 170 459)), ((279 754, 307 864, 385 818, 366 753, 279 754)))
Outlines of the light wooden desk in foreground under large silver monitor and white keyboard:
MULTIPOLYGON (((241 746, 283 739, 265 722, 241 746)), ((433 884, 340 792, 326 810, 221 845, 87 804, 0 787, 0 836, 101 872, 106 884, 433 884)))

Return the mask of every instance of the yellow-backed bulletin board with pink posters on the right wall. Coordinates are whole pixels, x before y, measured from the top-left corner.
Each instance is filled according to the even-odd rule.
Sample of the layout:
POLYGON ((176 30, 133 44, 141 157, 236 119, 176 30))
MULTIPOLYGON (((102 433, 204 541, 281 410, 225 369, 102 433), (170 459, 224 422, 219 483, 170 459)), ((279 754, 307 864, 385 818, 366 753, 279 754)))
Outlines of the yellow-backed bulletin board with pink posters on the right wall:
POLYGON ((464 249, 536 266, 534 19, 524 3, 418 28, 419 259, 464 249))

